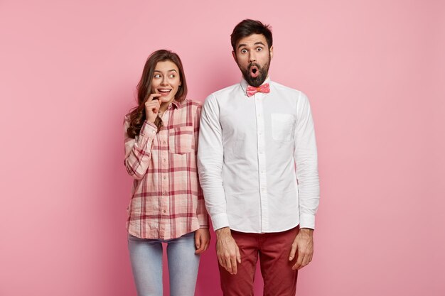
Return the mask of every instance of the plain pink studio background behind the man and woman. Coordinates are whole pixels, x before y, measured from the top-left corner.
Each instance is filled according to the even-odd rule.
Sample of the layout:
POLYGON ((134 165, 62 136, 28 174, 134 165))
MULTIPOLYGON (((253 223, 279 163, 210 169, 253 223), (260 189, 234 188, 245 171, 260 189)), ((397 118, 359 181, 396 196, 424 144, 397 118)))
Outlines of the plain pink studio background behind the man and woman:
MULTIPOLYGON (((142 67, 175 50, 203 100, 240 80, 243 18, 272 24, 271 77, 306 92, 316 122, 322 199, 298 295, 445 295, 439 0, 0 1, 0 295, 135 295, 122 119, 142 67)), ((221 295, 214 243, 198 296, 221 295)))

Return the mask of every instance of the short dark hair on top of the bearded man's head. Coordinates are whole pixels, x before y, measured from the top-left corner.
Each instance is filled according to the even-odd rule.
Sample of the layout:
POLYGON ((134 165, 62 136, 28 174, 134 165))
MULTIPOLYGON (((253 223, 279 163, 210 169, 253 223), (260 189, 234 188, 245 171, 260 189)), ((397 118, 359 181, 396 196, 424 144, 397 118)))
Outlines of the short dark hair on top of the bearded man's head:
POLYGON ((232 48, 236 52, 237 42, 250 36, 252 34, 262 34, 266 38, 267 46, 269 49, 272 47, 272 28, 269 25, 264 25, 260 21, 254 21, 251 19, 245 19, 233 28, 232 35, 230 35, 230 42, 232 43, 232 48))

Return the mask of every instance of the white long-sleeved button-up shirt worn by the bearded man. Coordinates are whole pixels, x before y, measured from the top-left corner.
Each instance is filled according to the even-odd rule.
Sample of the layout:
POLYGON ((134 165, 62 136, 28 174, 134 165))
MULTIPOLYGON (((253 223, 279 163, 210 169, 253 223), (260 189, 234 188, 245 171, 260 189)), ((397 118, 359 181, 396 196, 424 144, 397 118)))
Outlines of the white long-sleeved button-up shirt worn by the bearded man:
POLYGON ((215 230, 315 227, 319 184, 309 101, 298 90, 267 82, 269 94, 247 97, 242 80, 205 99, 198 172, 215 230))

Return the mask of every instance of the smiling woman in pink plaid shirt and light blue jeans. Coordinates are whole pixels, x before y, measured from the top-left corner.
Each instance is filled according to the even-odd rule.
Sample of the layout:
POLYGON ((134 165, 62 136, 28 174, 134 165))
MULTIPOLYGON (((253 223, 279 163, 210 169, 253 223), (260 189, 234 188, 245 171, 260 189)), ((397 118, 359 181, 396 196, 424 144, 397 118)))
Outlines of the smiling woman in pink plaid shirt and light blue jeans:
POLYGON ((201 105, 186 99, 176 53, 157 50, 137 86, 138 106, 124 121, 125 166, 134 177, 128 245, 138 295, 162 295, 167 243, 171 295, 194 295, 199 256, 210 234, 196 153, 201 105))

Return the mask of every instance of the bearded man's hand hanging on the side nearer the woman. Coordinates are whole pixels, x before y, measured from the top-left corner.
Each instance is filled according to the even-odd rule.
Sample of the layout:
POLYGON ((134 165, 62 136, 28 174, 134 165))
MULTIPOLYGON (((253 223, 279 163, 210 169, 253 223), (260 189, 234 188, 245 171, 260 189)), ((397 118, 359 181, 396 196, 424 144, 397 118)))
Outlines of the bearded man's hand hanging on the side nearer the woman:
POLYGON ((216 233, 216 256, 218 262, 231 275, 238 272, 237 263, 241 263, 240 249, 230 234, 229 227, 217 229, 216 233))

